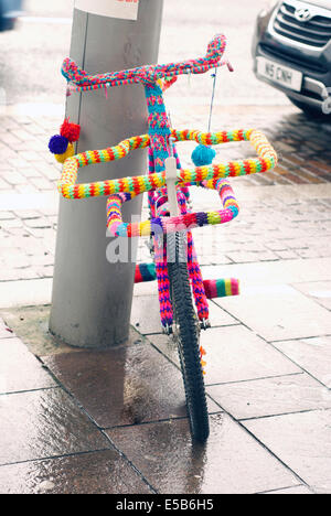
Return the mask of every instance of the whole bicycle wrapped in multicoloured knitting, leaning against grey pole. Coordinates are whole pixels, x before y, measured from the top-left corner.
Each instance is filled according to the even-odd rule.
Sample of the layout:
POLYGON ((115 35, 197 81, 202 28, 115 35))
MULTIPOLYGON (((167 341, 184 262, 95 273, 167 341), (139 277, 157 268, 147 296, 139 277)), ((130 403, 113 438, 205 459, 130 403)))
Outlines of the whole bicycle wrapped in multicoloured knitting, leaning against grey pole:
MULTIPOLYGON (((238 204, 225 178, 266 172, 277 163, 277 155, 266 137, 256 130, 200 132, 175 130, 167 116, 163 92, 183 74, 202 74, 211 68, 228 65, 223 61, 226 41, 215 36, 207 46, 206 56, 167 65, 141 66, 122 72, 90 76, 73 61, 65 60, 62 73, 71 92, 90 92, 128 84, 142 84, 148 107, 148 133, 128 138, 105 150, 74 154, 75 137, 66 121, 62 135, 67 139, 62 152, 50 144, 64 161, 58 191, 66 198, 86 198, 105 195, 107 226, 111 235, 120 237, 148 236, 152 239, 153 265, 136 267, 136 282, 157 279, 160 316, 163 332, 173 335, 183 376, 192 438, 205 441, 209 436, 209 415, 204 388, 204 350, 200 346, 201 329, 210 327, 207 299, 238 293, 235 279, 204 281, 196 258, 192 229, 223 224, 238 214, 238 204), (195 141, 194 169, 182 169, 174 143, 195 141), (212 146, 231 141, 250 141, 258 158, 213 164, 212 146), (136 149, 148 149, 148 175, 76 184, 78 169, 93 163, 110 162, 136 149), (197 154, 197 158, 196 158, 197 154), (193 213, 189 187, 216 190, 223 208, 193 213), (148 192, 150 218, 140 223, 125 223, 122 204, 148 192), (195 305, 195 308, 194 308, 195 305)), ((72 125, 74 131, 75 125, 72 125)), ((74 131, 75 132, 75 131, 74 131)), ((194 154, 194 153, 193 153, 194 154)))

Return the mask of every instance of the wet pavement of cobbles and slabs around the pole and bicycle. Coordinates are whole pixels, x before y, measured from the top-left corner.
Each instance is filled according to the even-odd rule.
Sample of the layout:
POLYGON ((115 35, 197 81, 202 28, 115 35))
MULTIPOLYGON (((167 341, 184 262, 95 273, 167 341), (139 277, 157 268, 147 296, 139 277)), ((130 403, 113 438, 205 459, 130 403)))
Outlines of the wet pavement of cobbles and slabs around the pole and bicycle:
MULTIPOLYGON (((204 112, 195 106, 193 127, 204 112)), ((45 147, 60 119, 1 125, 0 493, 331 492, 331 125, 289 106, 215 114, 222 128, 265 130, 280 162, 233 180, 237 221, 194 233, 204 278, 242 281, 241 297, 211 301, 202 334, 204 447, 191 442, 154 283, 136 286, 122 346, 73 350, 47 333, 60 166, 45 147)), ((247 151, 226 146, 220 159, 247 151)), ((218 205, 207 194, 194 194, 197 209, 218 205)))

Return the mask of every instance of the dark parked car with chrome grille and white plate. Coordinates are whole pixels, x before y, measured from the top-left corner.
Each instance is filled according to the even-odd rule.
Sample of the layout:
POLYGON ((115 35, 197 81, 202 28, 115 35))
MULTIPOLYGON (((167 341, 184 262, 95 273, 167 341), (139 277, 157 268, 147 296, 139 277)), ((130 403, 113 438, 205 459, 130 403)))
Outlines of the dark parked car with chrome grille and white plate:
POLYGON ((331 0, 277 1, 253 41, 258 79, 307 112, 331 115, 331 0))

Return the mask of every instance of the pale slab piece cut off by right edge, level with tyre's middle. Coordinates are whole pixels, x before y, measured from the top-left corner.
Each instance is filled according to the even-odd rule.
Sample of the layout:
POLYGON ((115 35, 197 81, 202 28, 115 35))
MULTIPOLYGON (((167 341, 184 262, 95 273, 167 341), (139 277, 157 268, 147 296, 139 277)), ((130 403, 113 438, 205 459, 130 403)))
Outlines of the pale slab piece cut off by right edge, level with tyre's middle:
POLYGON ((331 389, 331 336, 276 342, 274 346, 331 389))

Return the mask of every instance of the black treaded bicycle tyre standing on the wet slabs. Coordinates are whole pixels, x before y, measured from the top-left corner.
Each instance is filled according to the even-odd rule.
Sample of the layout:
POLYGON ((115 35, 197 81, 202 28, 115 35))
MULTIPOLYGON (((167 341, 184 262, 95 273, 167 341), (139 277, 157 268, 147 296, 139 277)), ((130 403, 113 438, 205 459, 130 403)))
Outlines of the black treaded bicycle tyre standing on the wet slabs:
POLYGON ((200 323, 193 308, 184 237, 186 234, 173 233, 167 238, 173 336, 178 344, 192 439, 204 442, 210 434, 209 412, 200 357, 200 323))

